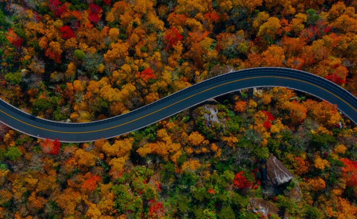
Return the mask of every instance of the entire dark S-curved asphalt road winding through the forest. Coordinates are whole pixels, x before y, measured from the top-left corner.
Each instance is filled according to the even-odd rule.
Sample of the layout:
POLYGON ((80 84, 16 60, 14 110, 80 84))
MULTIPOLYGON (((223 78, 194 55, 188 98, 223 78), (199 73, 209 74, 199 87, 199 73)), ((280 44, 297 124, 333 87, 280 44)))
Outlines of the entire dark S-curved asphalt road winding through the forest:
POLYGON ((0 99, 0 121, 36 138, 91 142, 143 128, 213 97, 244 88, 278 86, 300 90, 331 104, 357 124, 357 98, 317 75, 285 68, 253 68, 218 75, 126 114, 86 123, 42 119, 0 99))

